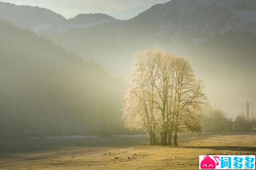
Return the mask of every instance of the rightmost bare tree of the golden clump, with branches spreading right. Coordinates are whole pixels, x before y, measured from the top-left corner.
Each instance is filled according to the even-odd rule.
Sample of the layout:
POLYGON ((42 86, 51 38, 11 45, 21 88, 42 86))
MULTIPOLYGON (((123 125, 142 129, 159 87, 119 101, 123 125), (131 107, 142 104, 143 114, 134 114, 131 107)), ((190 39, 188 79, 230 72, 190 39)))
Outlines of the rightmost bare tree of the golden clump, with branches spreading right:
POLYGON ((194 111, 200 109, 201 105, 207 105, 208 101, 205 93, 202 92, 204 88, 202 81, 196 81, 188 59, 184 57, 176 58, 175 70, 174 145, 177 145, 177 134, 180 125, 187 125, 186 122, 182 122, 183 118, 191 116, 194 111))

